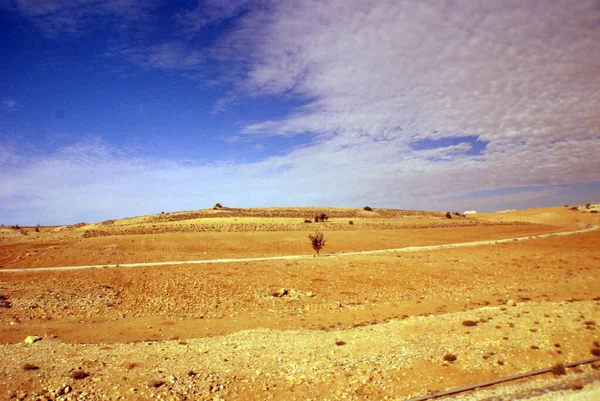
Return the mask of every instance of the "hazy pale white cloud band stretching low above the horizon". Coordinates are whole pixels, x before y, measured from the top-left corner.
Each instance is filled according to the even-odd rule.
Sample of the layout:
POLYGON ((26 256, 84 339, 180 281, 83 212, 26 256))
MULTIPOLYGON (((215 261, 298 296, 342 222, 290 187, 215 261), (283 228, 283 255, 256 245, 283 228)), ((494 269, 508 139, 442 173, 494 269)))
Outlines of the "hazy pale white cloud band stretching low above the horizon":
MULTIPOLYGON (((0 218, 10 218, 13 224, 62 224, 198 209, 216 202, 460 210, 466 204, 470 208, 492 204, 487 196, 467 201, 461 197, 474 189, 539 186, 544 191, 543 186, 573 182, 572 167, 557 174, 542 163, 553 154, 518 153, 516 160, 528 160, 525 168, 515 165, 514 174, 504 174, 499 168, 507 167, 505 161, 477 161, 465 154, 467 144, 408 154, 393 143, 367 137, 340 144, 324 141, 321 148, 297 148, 284 156, 243 164, 157 160, 97 141, 35 159, 3 149, 0 204, 5 215, 0 213, 0 218)), ((572 153, 574 158, 591 158, 595 149, 582 142, 572 153)), ((594 179, 587 174, 578 182, 594 179)), ((505 197, 505 203, 513 198, 505 197)))

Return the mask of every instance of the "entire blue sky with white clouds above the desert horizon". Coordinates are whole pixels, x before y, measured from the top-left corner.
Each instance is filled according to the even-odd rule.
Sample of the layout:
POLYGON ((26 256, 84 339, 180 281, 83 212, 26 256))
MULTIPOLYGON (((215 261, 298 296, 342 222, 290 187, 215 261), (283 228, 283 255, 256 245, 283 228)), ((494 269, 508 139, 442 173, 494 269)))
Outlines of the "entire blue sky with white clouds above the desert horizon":
POLYGON ((0 224, 600 201, 596 0, 0 0, 0 224))

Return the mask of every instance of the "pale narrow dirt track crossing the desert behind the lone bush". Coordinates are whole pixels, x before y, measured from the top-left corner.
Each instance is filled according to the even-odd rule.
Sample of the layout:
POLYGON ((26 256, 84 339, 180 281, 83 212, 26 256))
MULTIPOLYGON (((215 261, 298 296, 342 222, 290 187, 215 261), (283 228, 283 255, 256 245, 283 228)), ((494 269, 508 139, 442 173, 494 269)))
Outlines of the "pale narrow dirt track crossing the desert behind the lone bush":
MULTIPOLYGON (((563 231, 558 233, 529 235, 524 237, 505 238, 498 240, 484 240, 484 241, 471 241, 471 242, 460 242, 455 244, 442 244, 442 245, 424 245, 424 246, 409 246, 404 248, 389 248, 389 249, 377 249, 372 251, 356 251, 356 252, 341 252, 341 253, 330 253, 322 255, 322 257, 339 257, 339 256, 350 256, 350 255, 369 255, 384 252, 418 252, 418 251, 431 251, 436 249, 449 249, 449 248, 462 248, 462 247, 473 247, 481 245, 491 244, 502 244, 513 241, 526 241, 532 239, 541 239, 554 236, 573 235, 579 233, 585 233, 596 230, 598 226, 592 225, 580 230, 574 231, 563 231)), ((24 273, 24 272, 39 272, 39 271, 67 271, 67 270, 83 270, 83 269, 106 269, 115 267, 143 267, 143 266, 173 266, 173 265, 188 265, 188 264, 217 264, 217 263, 237 263, 237 262, 258 262, 258 261, 269 261, 269 260, 297 260, 297 259, 308 259, 314 257, 313 255, 284 255, 284 256, 268 256, 260 258, 225 258, 225 259, 202 259, 202 260, 185 260, 185 261, 170 261, 170 262, 142 262, 142 263, 121 263, 121 264, 104 264, 104 265, 82 265, 82 266, 57 266, 57 267, 37 267, 37 268, 23 268, 23 269, 0 269, 0 273, 24 273)))

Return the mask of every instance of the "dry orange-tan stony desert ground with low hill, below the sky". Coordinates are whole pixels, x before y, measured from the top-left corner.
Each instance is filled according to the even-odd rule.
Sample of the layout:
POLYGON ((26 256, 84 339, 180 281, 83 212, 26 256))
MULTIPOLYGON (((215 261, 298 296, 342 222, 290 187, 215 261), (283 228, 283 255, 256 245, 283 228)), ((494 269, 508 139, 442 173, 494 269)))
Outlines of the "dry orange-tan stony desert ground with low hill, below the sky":
POLYGON ((365 209, 2 226, 0 398, 600 399, 598 214, 365 209))

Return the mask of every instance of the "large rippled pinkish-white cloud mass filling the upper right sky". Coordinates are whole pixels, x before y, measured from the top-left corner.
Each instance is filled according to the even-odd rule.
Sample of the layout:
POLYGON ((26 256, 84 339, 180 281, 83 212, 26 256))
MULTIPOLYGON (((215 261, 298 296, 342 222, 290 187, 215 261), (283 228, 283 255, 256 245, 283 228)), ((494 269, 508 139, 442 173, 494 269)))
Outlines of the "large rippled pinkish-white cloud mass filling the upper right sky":
POLYGON ((388 177, 382 193, 394 182, 426 194, 593 181, 597 18, 593 1, 280 2, 230 38, 250 49, 239 90, 311 100, 242 132, 314 135, 307 152, 373 168, 388 177), (482 155, 432 161, 408 146, 465 135, 488 142, 482 155))

